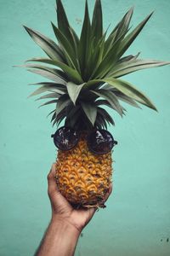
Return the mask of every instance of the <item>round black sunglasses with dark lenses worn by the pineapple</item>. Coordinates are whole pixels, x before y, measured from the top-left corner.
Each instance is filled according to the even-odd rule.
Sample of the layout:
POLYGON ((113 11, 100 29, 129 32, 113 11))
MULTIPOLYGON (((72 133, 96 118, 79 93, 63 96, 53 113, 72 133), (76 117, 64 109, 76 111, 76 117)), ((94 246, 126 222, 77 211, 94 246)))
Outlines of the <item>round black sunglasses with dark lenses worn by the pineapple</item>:
MULTIPOLYGON (((81 133, 71 127, 60 127, 52 136, 59 150, 67 151, 77 146, 81 133)), ((87 135, 88 149, 94 154, 107 154, 117 144, 111 133, 106 130, 90 131, 87 135)))

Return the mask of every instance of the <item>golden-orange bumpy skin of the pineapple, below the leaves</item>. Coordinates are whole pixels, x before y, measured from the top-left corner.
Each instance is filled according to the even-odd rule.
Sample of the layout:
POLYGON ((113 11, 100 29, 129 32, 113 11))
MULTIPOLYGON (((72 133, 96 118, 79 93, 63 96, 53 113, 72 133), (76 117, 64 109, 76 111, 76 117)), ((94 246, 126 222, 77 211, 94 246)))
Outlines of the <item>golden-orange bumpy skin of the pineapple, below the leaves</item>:
POLYGON ((112 178, 111 152, 96 155, 82 136, 75 148, 58 151, 56 183, 59 192, 74 207, 105 207, 105 194, 112 178))

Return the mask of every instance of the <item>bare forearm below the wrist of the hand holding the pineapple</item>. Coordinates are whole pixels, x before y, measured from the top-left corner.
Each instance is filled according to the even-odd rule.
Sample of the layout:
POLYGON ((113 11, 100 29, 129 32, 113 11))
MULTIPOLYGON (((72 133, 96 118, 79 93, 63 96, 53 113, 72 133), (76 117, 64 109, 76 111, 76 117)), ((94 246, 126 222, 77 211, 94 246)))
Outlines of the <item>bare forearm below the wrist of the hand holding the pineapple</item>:
POLYGON ((42 239, 42 244, 35 255, 72 256, 74 255, 79 235, 80 232, 76 227, 55 218, 50 222, 48 230, 42 239))

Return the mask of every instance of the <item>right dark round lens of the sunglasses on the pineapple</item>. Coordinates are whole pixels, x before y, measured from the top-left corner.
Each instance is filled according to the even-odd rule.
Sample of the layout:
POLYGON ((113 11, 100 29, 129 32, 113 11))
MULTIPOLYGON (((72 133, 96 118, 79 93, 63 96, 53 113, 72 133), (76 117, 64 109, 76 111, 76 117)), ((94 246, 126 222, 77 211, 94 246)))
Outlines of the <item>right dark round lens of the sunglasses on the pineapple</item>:
POLYGON ((105 130, 94 131, 88 137, 88 147, 94 154, 110 152, 115 143, 111 133, 105 130))

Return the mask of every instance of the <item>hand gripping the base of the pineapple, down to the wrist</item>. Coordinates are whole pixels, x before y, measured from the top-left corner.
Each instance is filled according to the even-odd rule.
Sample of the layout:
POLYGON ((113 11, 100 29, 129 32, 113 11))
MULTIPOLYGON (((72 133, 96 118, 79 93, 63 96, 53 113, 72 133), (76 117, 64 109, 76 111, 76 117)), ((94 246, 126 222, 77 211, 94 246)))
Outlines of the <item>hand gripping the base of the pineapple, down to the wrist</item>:
MULTIPOLYGON (((108 197, 111 195, 111 191, 112 184, 110 185, 108 193, 105 195, 104 201, 107 201, 108 197)), ((88 224, 90 219, 94 216, 94 212, 97 210, 97 207, 75 209, 65 197, 60 194, 55 180, 55 164, 53 164, 48 173, 48 196, 52 207, 52 220, 71 224, 79 232, 88 224)))

